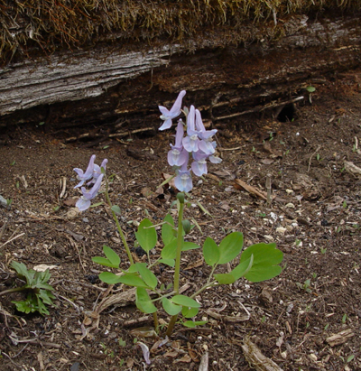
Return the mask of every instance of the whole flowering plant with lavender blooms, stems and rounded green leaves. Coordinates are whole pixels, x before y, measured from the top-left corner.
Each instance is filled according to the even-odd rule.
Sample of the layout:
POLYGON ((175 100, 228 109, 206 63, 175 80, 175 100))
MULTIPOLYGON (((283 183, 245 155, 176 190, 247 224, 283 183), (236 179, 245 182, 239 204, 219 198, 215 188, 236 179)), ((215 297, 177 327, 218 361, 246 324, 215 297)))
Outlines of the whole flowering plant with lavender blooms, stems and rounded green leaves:
MULTIPOLYGON (((88 184, 94 184, 91 190, 81 188, 82 197, 77 202, 80 210, 88 209, 90 200, 97 196, 101 181, 106 181, 106 201, 112 210, 116 226, 122 238, 125 251, 128 255, 130 266, 127 269, 120 268, 121 259, 116 252, 108 246, 103 246, 106 257, 93 257, 93 262, 105 265, 115 269, 114 272, 103 272, 99 278, 109 284, 124 283, 136 288, 135 304, 140 311, 153 313, 154 325, 158 330, 157 312, 162 309, 171 316, 166 330, 166 335, 171 335, 174 325, 181 315, 188 320, 181 323, 188 327, 194 327, 206 323, 205 321, 194 320, 199 313, 200 303, 196 300, 198 295, 211 287, 217 287, 221 284, 235 283, 241 277, 245 277, 251 282, 260 282, 273 278, 281 273, 282 268, 279 264, 282 262, 282 252, 276 248, 275 244, 255 244, 243 250, 244 237, 240 232, 232 232, 224 237, 218 244, 212 237, 207 237, 202 246, 187 241, 187 235, 192 226, 190 221, 183 218, 184 208, 187 206, 188 192, 192 190, 192 173, 201 176, 208 172, 207 160, 214 163, 221 162, 216 155, 216 142, 212 140, 217 130, 206 130, 202 123, 201 115, 198 109, 190 106, 190 109, 184 107, 181 110, 181 101, 186 92, 183 90, 177 97, 173 107, 168 110, 160 106, 163 121, 160 130, 171 128, 172 120, 180 116, 181 112, 186 116, 186 125, 181 119, 178 120, 175 144, 171 144, 171 150, 168 152, 168 162, 173 167, 175 187, 180 190, 177 200, 173 204, 177 205, 178 221, 175 223, 171 213, 167 214, 160 226, 162 253, 157 258, 151 258, 150 251, 158 243, 158 234, 152 221, 144 218, 140 223, 135 239, 147 255, 147 262, 134 263, 134 258, 130 247, 127 244, 125 236, 120 226, 117 214, 120 208, 111 203, 108 194, 108 181, 106 178, 106 162, 97 166, 95 156, 90 159, 86 172, 80 169, 74 169, 79 176, 80 187, 85 181, 88 184), (186 135, 184 135, 186 133, 186 135), (189 168, 189 162, 191 165, 189 168), (200 249, 206 264, 208 264, 208 279, 195 292, 189 296, 180 293, 180 256, 183 252, 200 249), (240 255, 239 257, 237 257, 240 255), (224 273, 225 269, 221 265, 234 262, 234 267, 230 272, 224 273), (157 276, 153 273, 153 267, 157 264, 164 264, 171 267, 174 271, 173 283, 171 288, 164 288, 159 284, 157 276)), ((168 180, 169 181, 169 180, 168 180)))

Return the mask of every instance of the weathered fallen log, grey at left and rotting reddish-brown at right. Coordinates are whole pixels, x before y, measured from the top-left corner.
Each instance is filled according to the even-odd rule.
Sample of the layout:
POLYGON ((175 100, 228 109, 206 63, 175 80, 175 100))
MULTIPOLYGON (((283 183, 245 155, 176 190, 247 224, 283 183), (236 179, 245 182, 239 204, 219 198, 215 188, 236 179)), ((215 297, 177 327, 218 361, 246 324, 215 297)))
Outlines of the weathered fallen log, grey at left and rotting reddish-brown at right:
POLYGON ((242 115, 274 99, 300 95, 322 74, 358 66, 359 15, 274 19, 283 23, 277 42, 273 35, 249 45, 218 47, 218 39, 210 36, 194 44, 191 54, 179 44, 140 51, 103 44, 90 52, 62 51, 46 60, 10 64, 0 69, 0 126, 45 122, 64 128, 121 117, 149 126, 158 124, 157 105, 171 105, 180 89, 189 92, 186 102, 187 97, 197 101, 213 120, 242 115))

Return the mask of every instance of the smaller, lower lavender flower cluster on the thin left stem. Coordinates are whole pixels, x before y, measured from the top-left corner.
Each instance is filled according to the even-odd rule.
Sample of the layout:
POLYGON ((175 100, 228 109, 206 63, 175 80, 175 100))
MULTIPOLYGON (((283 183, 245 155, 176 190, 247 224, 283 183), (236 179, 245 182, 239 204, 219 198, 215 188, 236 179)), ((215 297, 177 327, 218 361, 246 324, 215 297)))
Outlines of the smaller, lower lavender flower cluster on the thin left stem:
POLYGON ((93 154, 90 157, 86 172, 83 172, 79 168, 74 169, 74 172, 78 174, 78 179, 80 181, 79 184, 77 184, 74 188, 81 187, 86 181, 88 181, 87 185, 94 184, 90 190, 87 190, 85 187, 81 187, 81 193, 83 195, 75 204, 80 211, 84 211, 90 207, 90 201, 91 199, 95 199, 97 197, 97 192, 99 191, 101 182, 103 181, 104 174, 101 172, 101 168, 106 170, 107 160, 104 159, 100 166, 97 165, 97 163, 94 163, 95 160, 96 155, 93 154))

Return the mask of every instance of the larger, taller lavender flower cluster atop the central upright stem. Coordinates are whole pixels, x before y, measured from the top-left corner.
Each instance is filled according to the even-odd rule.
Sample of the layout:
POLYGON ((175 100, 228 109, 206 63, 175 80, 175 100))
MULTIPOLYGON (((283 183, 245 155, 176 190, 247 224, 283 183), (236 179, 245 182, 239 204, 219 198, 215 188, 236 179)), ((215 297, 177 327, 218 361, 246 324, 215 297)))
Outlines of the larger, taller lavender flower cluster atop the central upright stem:
MULTIPOLYGON (((164 121, 159 130, 169 129, 172 119, 180 116, 181 102, 185 95, 185 90, 180 91, 171 110, 159 106, 162 113, 161 119, 164 121)), ((168 153, 168 163, 175 168, 177 175, 174 184, 177 189, 189 192, 193 188, 190 171, 200 177, 208 172, 207 159, 213 163, 219 163, 222 160, 215 155, 217 144, 212 141, 212 136, 217 133, 217 130, 206 130, 200 112, 194 106, 190 106, 190 110, 184 108, 183 112, 187 117, 187 135, 184 136, 184 123, 180 118, 176 129, 175 144, 171 144, 171 151, 168 153), (189 170, 190 156, 193 162, 189 170)))

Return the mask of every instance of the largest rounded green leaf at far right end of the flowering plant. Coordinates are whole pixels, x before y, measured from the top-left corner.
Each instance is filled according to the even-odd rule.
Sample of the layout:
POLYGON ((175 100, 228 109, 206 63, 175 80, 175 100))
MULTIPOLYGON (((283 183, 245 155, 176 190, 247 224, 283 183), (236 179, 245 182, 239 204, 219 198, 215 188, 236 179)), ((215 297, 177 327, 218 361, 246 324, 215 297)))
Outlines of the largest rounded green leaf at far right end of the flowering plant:
POLYGON ((282 268, 277 265, 282 262, 282 251, 276 248, 276 244, 255 244, 249 246, 241 255, 240 263, 254 255, 252 268, 245 274, 245 278, 253 283, 269 280, 281 274, 282 268))

